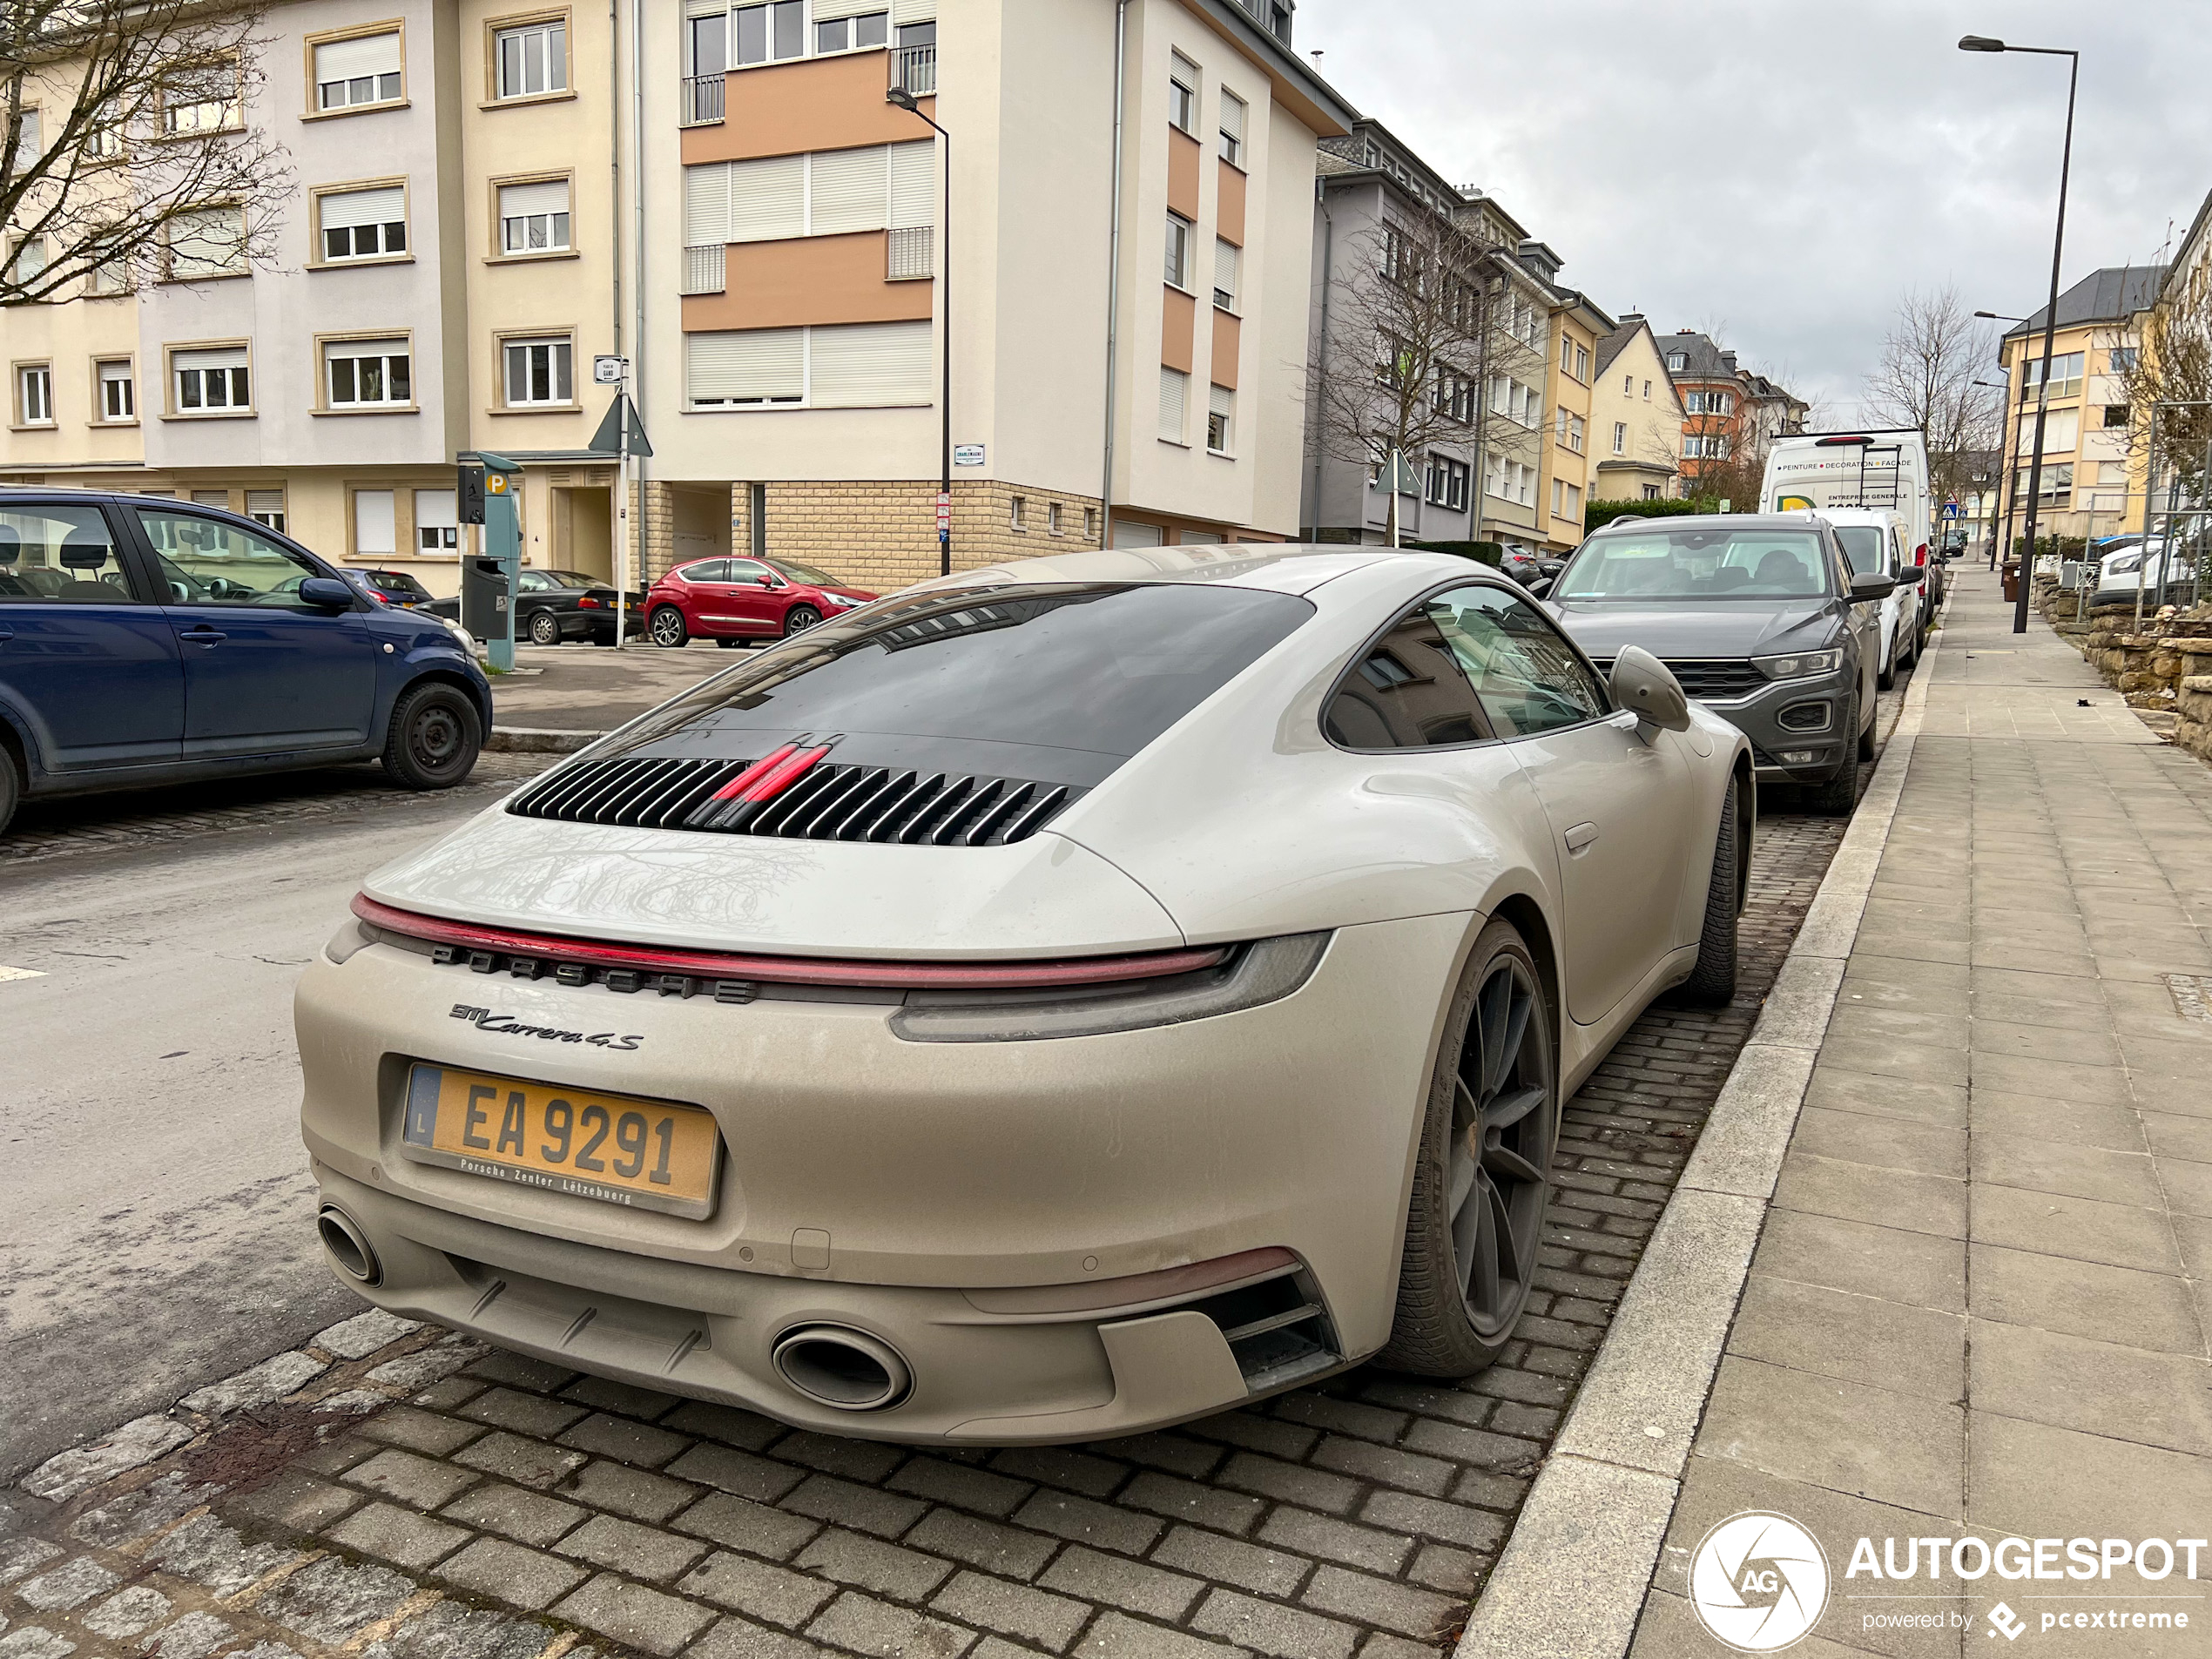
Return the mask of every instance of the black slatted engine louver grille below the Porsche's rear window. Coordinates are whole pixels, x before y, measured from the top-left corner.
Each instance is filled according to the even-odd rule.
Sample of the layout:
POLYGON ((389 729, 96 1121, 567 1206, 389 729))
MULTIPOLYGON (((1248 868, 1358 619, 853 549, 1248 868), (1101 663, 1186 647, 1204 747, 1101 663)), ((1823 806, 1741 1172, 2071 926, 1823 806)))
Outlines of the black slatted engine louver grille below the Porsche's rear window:
POLYGON ((723 818, 721 790, 752 761, 613 759, 566 765, 524 790, 524 818, 639 830, 991 847, 1035 834, 1084 790, 887 765, 814 765, 745 816, 723 818))

